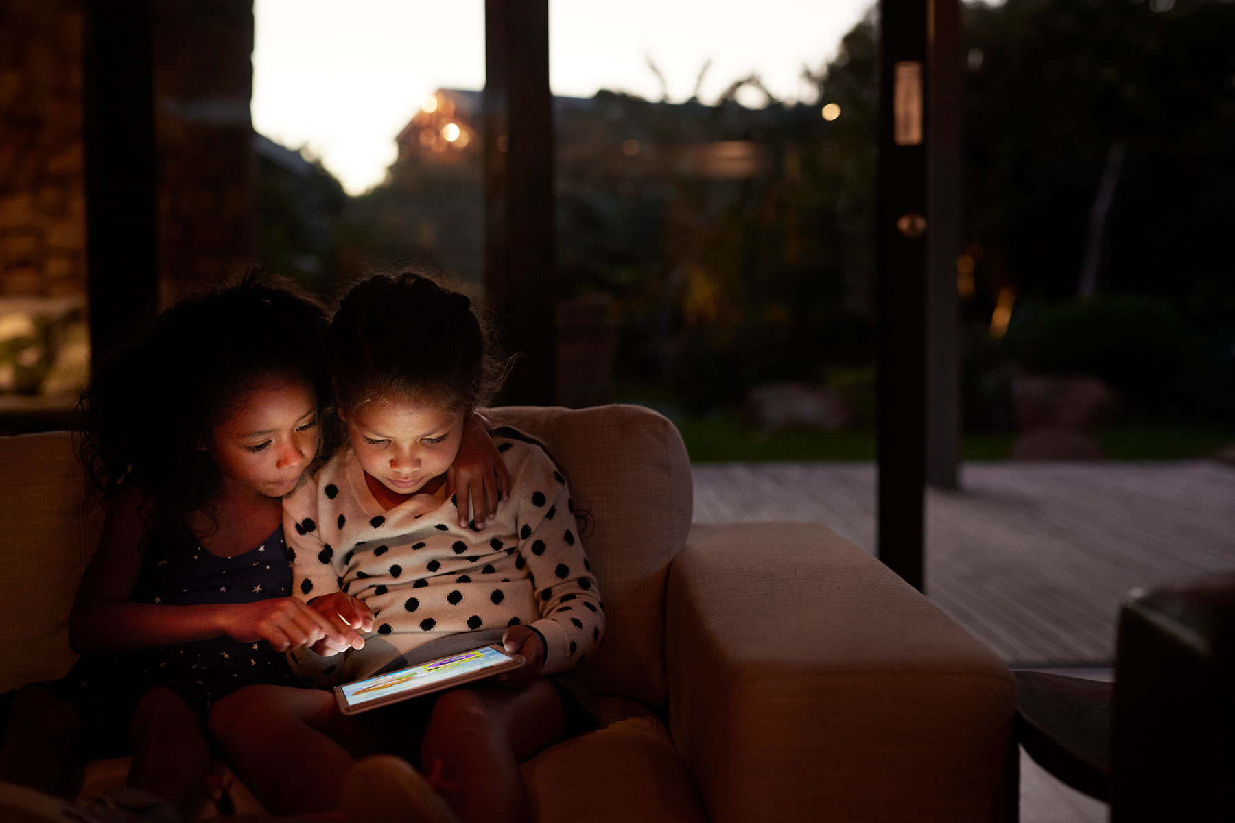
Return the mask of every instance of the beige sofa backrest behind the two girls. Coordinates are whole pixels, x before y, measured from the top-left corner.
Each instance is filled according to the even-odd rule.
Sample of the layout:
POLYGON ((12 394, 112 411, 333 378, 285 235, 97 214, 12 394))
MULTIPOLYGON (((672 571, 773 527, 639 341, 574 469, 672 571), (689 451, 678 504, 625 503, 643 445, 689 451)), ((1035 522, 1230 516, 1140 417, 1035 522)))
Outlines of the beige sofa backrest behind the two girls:
MULTIPOLYGON (((490 410, 543 442, 590 529, 583 545, 605 605, 604 645, 580 674, 598 693, 664 702, 664 590, 692 517, 677 428, 641 406, 490 410)), ((0 437, 0 691, 62 675, 68 614, 101 515, 84 495, 68 432, 0 437)))

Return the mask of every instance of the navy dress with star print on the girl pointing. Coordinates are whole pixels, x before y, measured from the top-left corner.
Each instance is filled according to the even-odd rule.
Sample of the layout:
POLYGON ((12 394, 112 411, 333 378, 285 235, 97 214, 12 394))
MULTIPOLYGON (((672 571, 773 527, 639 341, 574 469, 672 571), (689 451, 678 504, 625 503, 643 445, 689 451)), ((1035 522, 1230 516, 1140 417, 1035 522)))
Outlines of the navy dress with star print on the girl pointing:
MULTIPOLYGON (((168 606, 249 603, 291 593, 283 527, 233 558, 211 554, 185 528, 149 540, 130 601, 168 606)), ((61 680, 43 684, 82 714, 88 748, 105 756, 127 740, 142 695, 165 686, 205 721, 210 706, 252 684, 298 686, 285 655, 264 640, 228 637, 125 654, 86 654, 61 680)), ((117 751, 119 753, 119 751, 117 751)))

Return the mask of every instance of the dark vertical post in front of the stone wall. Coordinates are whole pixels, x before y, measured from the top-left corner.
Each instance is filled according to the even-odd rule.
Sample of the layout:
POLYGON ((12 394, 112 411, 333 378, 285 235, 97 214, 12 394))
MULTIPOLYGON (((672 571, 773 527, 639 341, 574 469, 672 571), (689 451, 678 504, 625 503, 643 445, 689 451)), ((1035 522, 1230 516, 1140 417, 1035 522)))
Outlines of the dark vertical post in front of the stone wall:
POLYGON ((83 43, 93 360, 158 311, 152 0, 88 0, 83 43))

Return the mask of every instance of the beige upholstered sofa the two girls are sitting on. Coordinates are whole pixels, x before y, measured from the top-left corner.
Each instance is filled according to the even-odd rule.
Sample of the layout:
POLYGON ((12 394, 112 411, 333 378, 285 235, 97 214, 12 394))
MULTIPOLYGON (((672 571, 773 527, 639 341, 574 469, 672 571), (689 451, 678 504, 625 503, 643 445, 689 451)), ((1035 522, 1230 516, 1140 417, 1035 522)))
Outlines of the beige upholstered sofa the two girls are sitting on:
MULTIPOLYGON (((511 407, 590 512, 609 628, 582 671, 605 726, 525 764, 538 818, 1015 819, 1014 681, 824 527, 692 528, 677 429, 636 406, 511 407)), ((0 689, 62 674, 98 512, 67 433, 0 438, 0 689)), ((124 761, 91 764, 90 788, 124 761)), ((238 811, 253 811, 243 787, 238 811)))

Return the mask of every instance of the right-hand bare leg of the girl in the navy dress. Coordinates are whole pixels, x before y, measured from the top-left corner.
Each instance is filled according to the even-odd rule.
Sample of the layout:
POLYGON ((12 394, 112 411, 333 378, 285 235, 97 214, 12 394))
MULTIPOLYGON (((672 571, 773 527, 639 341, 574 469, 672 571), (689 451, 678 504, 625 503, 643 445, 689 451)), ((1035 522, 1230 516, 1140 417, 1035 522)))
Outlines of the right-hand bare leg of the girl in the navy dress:
POLYGON ((210 745, 198 714, 170 689, 151 689, 128 723, 128 785, 158 795, 191 819, 210 774, 210 745))

